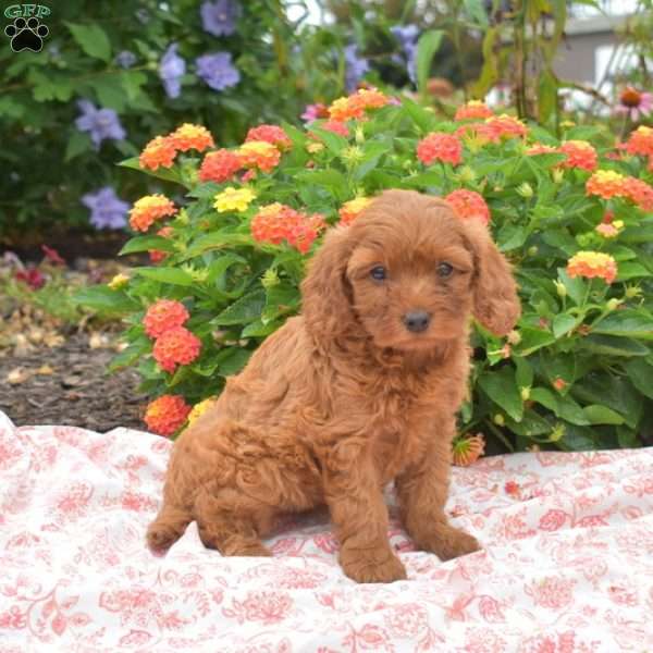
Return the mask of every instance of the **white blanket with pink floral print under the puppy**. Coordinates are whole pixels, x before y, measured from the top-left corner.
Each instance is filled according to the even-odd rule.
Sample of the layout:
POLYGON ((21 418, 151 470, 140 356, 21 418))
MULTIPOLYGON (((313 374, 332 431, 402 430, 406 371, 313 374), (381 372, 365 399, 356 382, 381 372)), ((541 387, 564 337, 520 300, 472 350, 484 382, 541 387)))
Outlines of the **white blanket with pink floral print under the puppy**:
POLYGON ((170 447, 0 412, 0 653, 653 649, 651 448, 454 469, 447 510, 483 550, 448 563, 415 551, 391 505, 409 579, 357 586, 324 510, 288 517, 272 558, 223 558, 194 523, 150 555, 170 447))

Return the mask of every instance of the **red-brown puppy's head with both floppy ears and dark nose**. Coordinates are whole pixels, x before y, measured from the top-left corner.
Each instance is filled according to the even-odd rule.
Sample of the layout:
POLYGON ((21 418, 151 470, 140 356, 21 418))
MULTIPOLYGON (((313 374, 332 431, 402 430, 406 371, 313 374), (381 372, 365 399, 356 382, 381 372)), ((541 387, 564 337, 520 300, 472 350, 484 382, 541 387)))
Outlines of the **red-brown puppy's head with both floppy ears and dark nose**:
POLYGON ((442 199, 387 190, 334 229, 301 285, 316 337, 364 331, 379 347, 436 347, 466 333, 469 313, 497 335, 519 318, 510 268, 488 230, 442 199))

